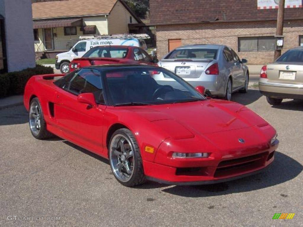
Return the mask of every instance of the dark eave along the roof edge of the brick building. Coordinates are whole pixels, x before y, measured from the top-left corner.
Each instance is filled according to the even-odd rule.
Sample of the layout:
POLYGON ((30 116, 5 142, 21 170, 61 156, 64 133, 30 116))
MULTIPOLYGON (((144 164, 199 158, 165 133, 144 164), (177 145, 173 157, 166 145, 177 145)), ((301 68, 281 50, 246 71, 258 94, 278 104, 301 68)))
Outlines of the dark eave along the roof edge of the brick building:
MULTIPOLYGON (((302 21, 303 18, 296 19, 284 19, 284 21, 302 21)), ((230 21, 200 21, 200 22, 189 22, 189 23, 165 23, 165 24, 146 24, 147 27, 154 26, 167 26, 167 25, 199 25, 199 24, 220 24, 220 23, 245 23, 245 22, 273 22, 277 21, 277 19, 271 20, 230 20, 230 21)))

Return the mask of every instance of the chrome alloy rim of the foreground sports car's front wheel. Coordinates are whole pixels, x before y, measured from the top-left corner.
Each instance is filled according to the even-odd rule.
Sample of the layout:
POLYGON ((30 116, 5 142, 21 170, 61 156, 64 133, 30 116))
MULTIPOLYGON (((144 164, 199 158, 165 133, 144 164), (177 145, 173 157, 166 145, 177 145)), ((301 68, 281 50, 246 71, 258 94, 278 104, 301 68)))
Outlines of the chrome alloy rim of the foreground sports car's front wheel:
POLYGON ((115 176, 127 182, 134 172, 134 150, 131 142, 122 134, 115 135, 109 145, 110 165, 115 176))

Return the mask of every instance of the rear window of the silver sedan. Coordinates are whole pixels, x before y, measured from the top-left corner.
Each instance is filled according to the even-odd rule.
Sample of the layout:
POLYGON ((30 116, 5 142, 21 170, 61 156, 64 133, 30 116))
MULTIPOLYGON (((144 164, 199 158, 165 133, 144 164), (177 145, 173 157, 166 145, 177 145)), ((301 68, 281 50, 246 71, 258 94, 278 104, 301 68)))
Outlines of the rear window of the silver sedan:
POLYGON ((176 49, 171 52, 165 59, 209 59, 214 60, 217 58, 217 49, 208 48, 189 48, 189 49, 176 49))

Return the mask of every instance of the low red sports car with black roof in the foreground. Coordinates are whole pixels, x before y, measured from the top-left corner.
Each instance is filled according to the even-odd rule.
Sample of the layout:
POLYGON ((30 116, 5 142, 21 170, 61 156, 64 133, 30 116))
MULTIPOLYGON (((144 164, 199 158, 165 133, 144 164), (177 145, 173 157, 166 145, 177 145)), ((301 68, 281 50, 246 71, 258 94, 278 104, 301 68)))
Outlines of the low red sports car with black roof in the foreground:
POLYGON ((125 186, 218 183, 274 160, 279 141, 264 119, 241 104, 205 98, 203 87, 164 68, 104 65, 57 76, 26 84, 32 135, 55 134, 108 158, 125 186))

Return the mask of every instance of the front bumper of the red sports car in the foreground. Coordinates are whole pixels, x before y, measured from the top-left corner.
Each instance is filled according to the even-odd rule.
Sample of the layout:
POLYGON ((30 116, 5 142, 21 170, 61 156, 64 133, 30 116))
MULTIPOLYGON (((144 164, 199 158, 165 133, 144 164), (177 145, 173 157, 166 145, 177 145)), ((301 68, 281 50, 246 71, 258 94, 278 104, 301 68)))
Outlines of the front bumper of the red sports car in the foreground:
POLYGON ((274 161, 278 140, 266 150, 251 151, 231 159, 176 160, 170 166, 143 161, 146 178, 170 185, 200 185, 230 181, 260 172, 274 161))

